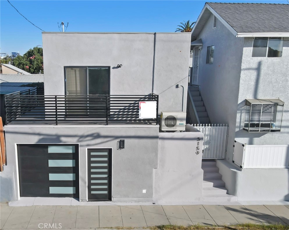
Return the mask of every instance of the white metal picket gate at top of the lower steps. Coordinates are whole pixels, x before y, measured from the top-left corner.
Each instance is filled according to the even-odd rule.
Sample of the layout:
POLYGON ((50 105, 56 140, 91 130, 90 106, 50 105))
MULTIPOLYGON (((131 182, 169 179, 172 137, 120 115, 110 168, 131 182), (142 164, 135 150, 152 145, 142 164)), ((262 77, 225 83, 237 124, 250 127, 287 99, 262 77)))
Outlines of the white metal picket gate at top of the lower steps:
POLYGON ((204 134, 203 159, 225 159, 229 127, 225 124, 192 125, 204 134))

